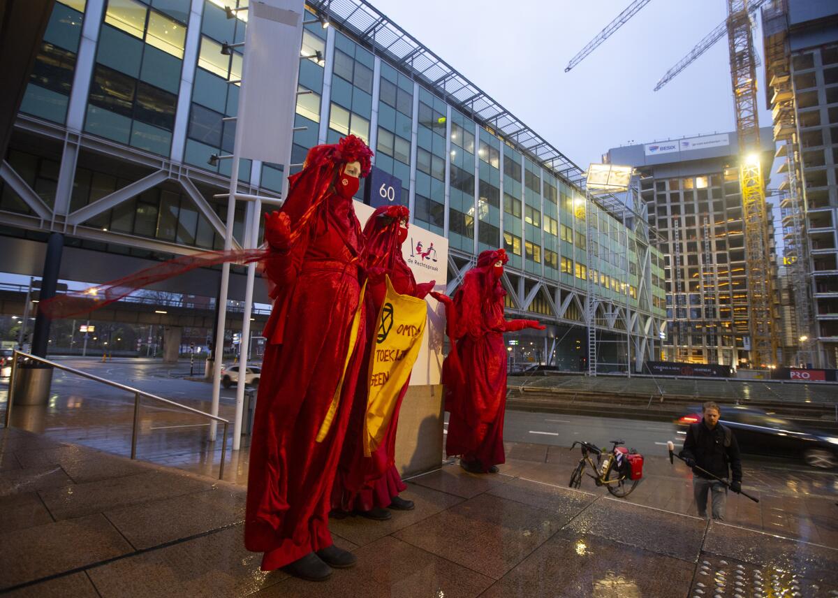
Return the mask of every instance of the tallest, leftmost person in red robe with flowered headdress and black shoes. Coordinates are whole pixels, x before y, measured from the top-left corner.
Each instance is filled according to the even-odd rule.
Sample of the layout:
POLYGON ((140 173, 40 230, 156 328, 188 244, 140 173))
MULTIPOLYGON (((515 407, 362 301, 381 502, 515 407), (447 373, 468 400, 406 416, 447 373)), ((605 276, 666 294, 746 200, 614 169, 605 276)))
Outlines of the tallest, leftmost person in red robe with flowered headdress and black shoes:
POLYGON ((245 545, 262 570, 323 580, 353 554, 334 546, 328 512, 361 365, 363 239, 352 196, 372 152, 354 136, 308 153, 282 211, 266 215, 274 299, 263 335, 250 452, 245 545), (325 432, 325 433, 324 433, 325 432))

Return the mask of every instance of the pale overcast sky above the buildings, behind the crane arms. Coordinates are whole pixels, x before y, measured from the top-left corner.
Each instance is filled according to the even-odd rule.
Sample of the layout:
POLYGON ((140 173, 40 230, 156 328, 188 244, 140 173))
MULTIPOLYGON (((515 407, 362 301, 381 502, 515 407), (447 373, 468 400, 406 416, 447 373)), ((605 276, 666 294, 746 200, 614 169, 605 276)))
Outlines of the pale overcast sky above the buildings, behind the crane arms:
MULTIPOLYGON (((370 2, 582 169, 629 141, 735 127, 727 36, 653 91, 670 66, 722 23, 724 0, 652 0, 569 73, 568 60, 630 0, 370 2)), ((760 90, 762 83, 760 69, 760 90)))

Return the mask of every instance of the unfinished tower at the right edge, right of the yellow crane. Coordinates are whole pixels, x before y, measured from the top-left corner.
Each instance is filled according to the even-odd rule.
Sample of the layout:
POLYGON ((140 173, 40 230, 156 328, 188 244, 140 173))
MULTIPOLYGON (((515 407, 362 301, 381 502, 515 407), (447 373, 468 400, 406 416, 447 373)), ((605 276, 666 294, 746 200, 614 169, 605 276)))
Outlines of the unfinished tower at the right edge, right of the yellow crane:
POLYGON ((794 301, 794 362, 838 367, 838 5, 763 5, 765 100, 783 192, 783 261, 794 301))

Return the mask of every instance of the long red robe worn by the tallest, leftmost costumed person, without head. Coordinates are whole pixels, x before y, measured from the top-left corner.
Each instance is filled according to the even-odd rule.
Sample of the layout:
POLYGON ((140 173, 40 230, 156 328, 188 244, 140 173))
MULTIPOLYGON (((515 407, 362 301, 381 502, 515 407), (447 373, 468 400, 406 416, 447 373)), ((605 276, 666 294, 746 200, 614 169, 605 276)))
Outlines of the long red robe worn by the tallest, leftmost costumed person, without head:
MULTIPOLYGON (((289 197, 289 202, 291 201, 289 197)), ((303 205, 303 208, 305 206, 303 205)), ((361 235, 352 201, 331 195, 286 259, 266 262, 277 285, 264 335, 251 439, 245 544, 272 570, 332 544, 329 497, 361 364, 349 346, 359 304, 361 235), (352 351, 339 407, 323 442, 316 437, 352 351)), ((364 318, 358 339, 363 339, 364 318)))

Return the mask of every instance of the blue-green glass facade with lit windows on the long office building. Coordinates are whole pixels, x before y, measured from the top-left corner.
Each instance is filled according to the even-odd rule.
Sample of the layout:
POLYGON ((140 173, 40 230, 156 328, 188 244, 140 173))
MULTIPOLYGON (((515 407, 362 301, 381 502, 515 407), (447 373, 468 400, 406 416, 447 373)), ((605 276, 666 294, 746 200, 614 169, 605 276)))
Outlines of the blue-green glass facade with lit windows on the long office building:
MULTIPOLYGON (((210 165, 209 157, 233 152, 235 121, 223 119, 238 109, 243 55, 239 48, 229 55, 221 49, 244 41, 247 13, 228 19, 224 7, 245 5, 246 0, 106 0, 96 15, 99 35, 84 131, 189 169, 229 176, 229 159, 210 165), (178 95, 189 101, 182 97, 178 107, 178 95), (177 131, 176 122, 182 123, 177 131), (176 139, 179 131, 183 138, 176 139), (183 155, 173 155, 180 147, 183 155)), ((88 18, 84 10, 84 2, 56 3, 21 112, 65 122, 81 23, 88 18)), ((525 306, 510 294, 510 309, 582 323, 582 309, 568 297, 587 292, 590 282, 602 299, 664 315, 660 253, 606 211, 588 209, 585 196, 558 172, 469 117, 468 107, 443 97, 408 65, 371 52, 369 40, 360 43, 336 27, 310 23, 301 41, 295 116, 300 130, 293 133, 291 172, 300 168, 309 148, 352 133, 373 147, 377 168, 401 179, 401 202, 412 205, 412 220, 447 236, 453 257, 468 261, 480 251, 504 247, 510 281, 514 287, 520 283, 516 290, 528 296, 541 283, 525 306), (587 238, 591 227, 595 240, 587 238), (648 255, 651 264, 642 267, 648 255), (640 292, 649 287, 651 304, 640 292)), ((50 194, 54 200, 58 162, 25 153, 10 153, 8 159, 27 173, 44 202, 50 194)), ((242 181, 255 176, 255 189, 282 190, 282 165, 251 165, 242 160, 242 181)), ((132 180, 80 167, 70 211, 132 180)), ((358 197, 363 192, 362 183, 358 197)), ((202 194, 223 221, 224 204, 215 203, 209 190, 202 194)), ((696 201, 709 199, 696 195, 696 201)), ((5 210, 31 213, 6 186, 0 200, 5 210)), ((241 209, 237 238, 243 223, 241 209)), ((81 226, 189 247, 221 246, 189 194, 167 185, 144 190, 81 226)))

